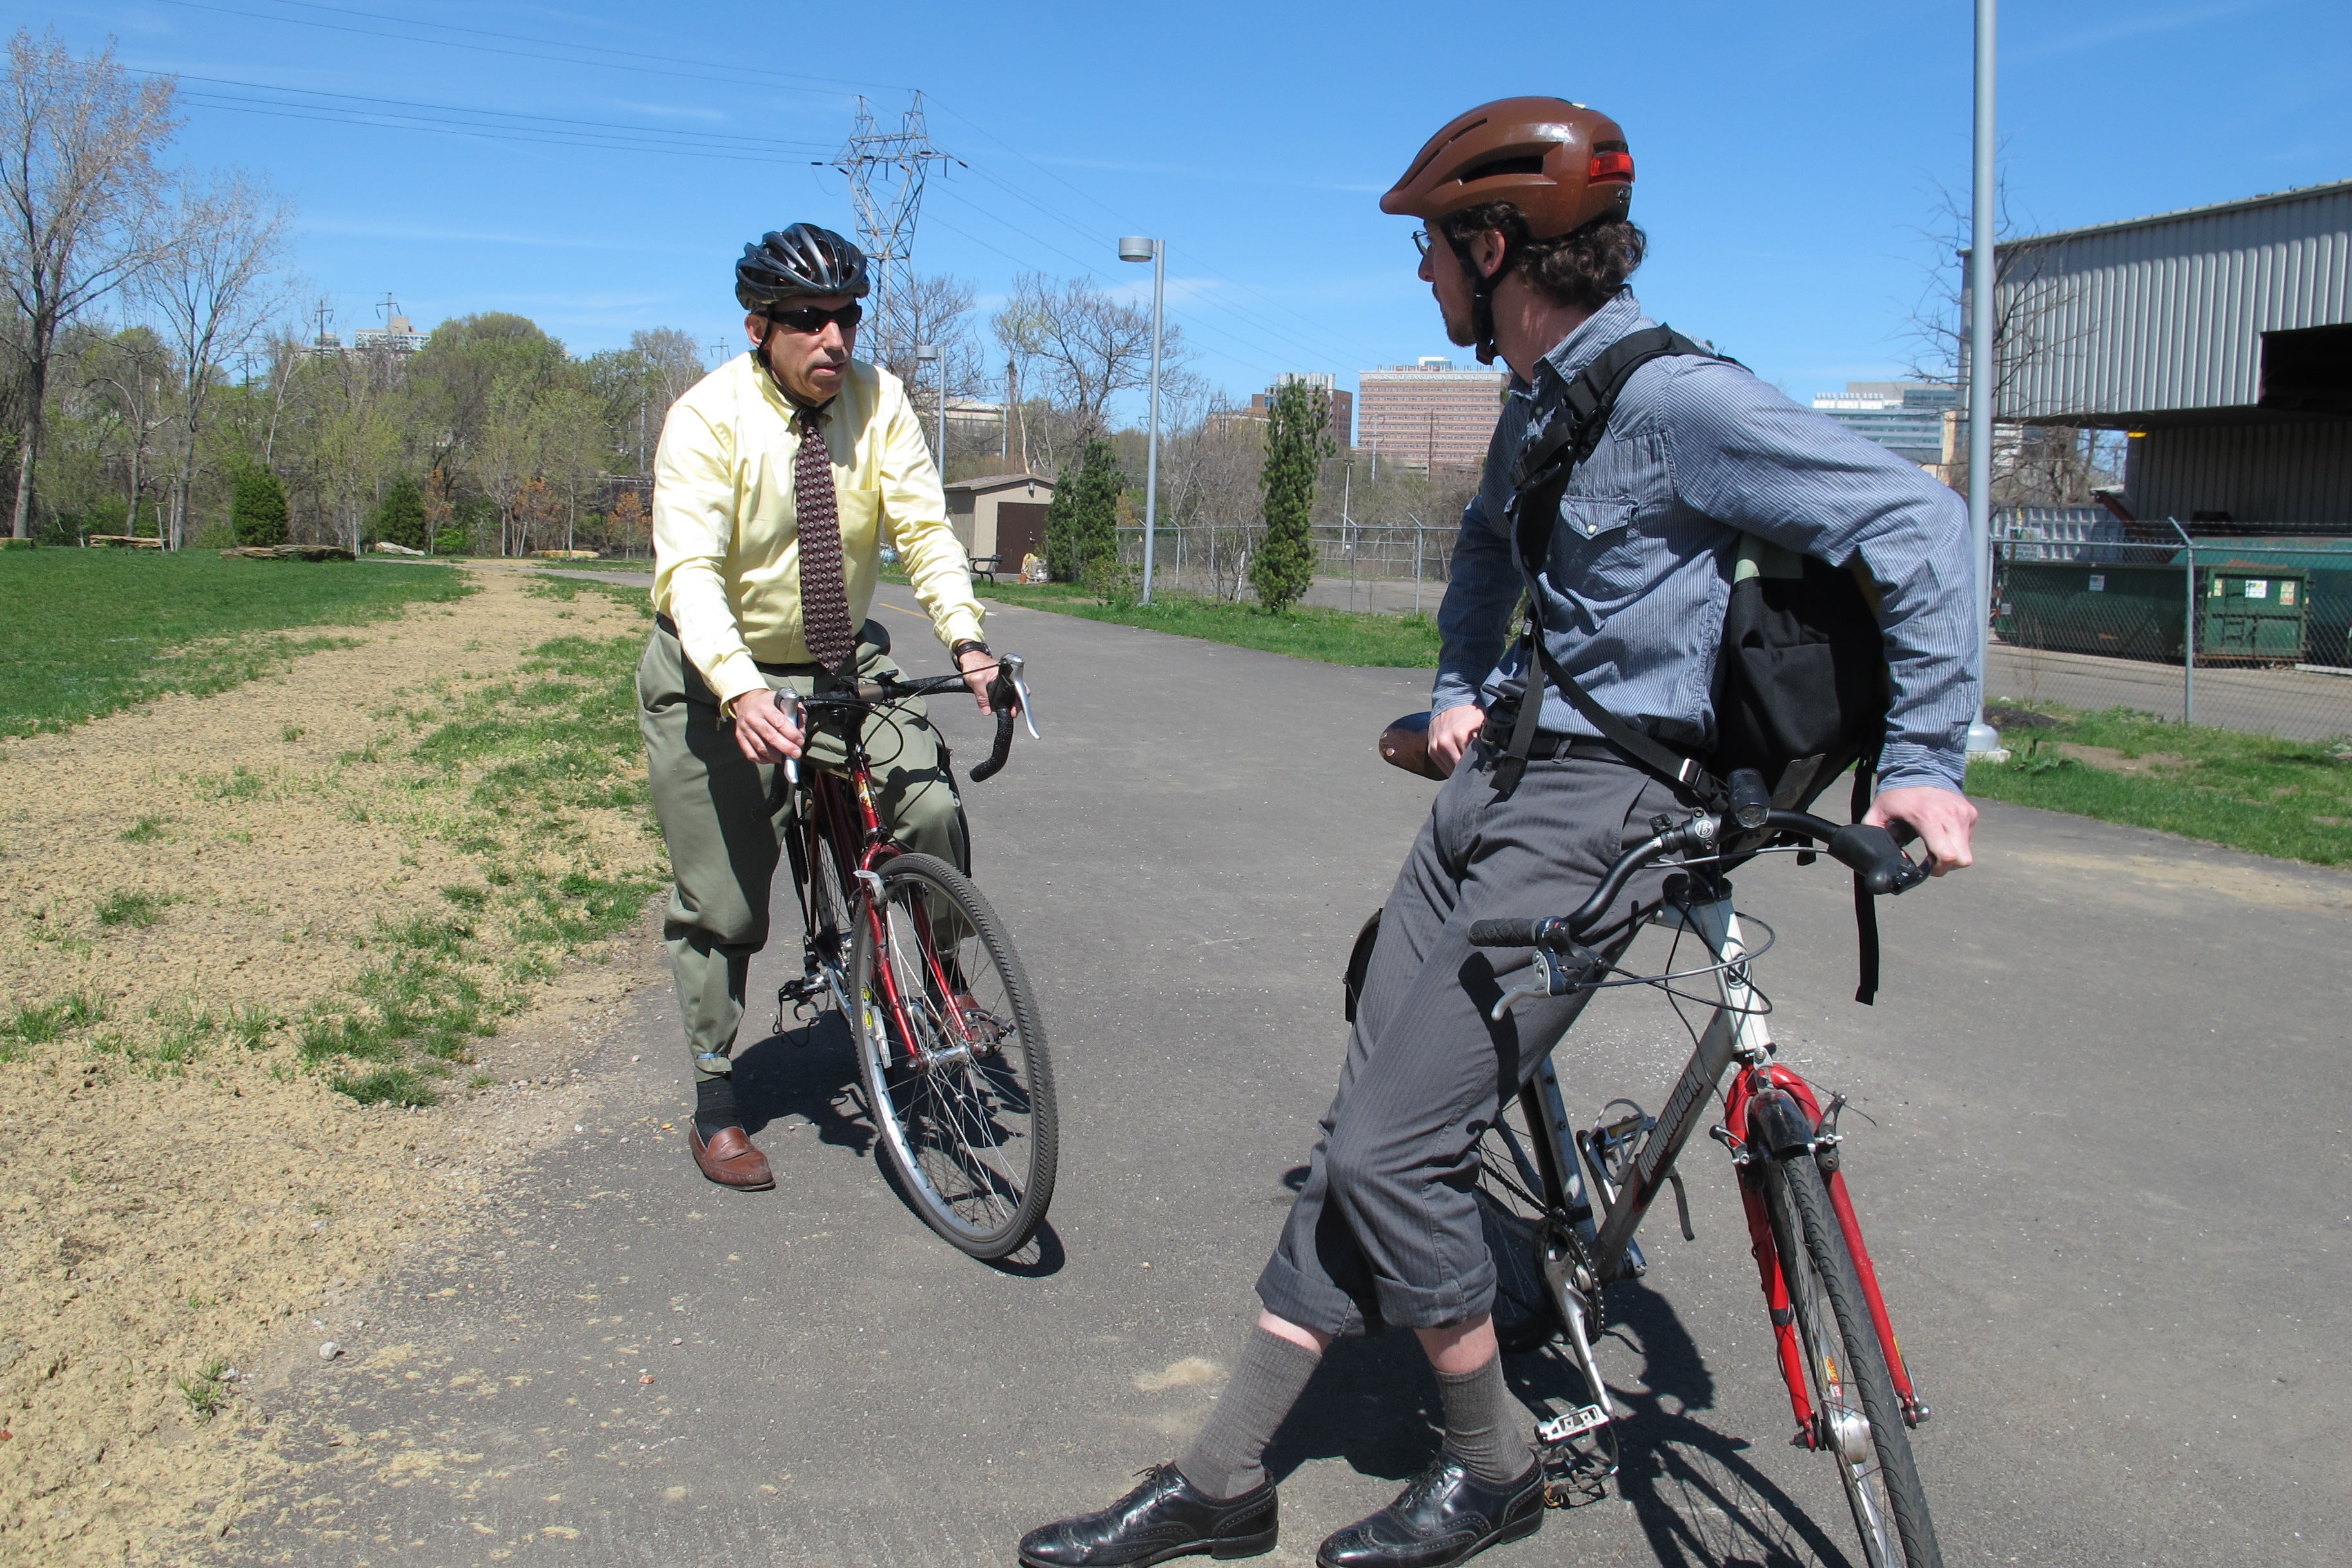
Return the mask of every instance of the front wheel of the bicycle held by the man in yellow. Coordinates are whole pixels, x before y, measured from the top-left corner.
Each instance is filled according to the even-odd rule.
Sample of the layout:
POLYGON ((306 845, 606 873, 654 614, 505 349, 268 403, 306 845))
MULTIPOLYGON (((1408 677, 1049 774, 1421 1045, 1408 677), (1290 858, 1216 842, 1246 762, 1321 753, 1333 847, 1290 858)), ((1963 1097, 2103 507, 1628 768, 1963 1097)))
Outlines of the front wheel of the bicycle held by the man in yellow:
POLYGON ((1061 1126, 1044 1018, 962 872, 896 856, 880 877, 849 961, 877 1143, 924 1225, 974 1258, 1004 1258, 1054 1199, 1061 1126))

